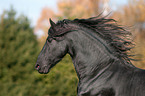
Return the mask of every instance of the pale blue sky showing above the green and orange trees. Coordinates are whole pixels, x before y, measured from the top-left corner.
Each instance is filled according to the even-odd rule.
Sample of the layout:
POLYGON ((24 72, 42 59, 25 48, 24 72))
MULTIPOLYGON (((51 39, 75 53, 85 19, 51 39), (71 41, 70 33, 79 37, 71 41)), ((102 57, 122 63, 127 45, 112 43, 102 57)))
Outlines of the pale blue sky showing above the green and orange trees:
MULTIPOLYGON (((127 1, 110 0, 109 5, 116 10, 118 6, 127 4, 127 1)), ((0 14, 3 10, 9 10, 11 6, 16 10, 17 15, 24 14, 31 20, 31 25, 35 26, 44 7, 57 11, 57 0, 0 0, 0 14)))

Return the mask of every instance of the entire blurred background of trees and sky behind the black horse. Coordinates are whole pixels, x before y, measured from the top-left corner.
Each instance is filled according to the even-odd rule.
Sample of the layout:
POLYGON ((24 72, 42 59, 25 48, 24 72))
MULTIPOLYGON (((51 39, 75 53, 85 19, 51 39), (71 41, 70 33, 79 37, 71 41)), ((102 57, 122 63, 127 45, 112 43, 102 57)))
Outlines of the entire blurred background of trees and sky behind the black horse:
POLYGON ((49 74, 35 69, 49 18, 113 18, 133 34, 132 63, 145 69, 145 0, 0 0, 0 96, 76 96, 77 76, 69 55, 49 74))

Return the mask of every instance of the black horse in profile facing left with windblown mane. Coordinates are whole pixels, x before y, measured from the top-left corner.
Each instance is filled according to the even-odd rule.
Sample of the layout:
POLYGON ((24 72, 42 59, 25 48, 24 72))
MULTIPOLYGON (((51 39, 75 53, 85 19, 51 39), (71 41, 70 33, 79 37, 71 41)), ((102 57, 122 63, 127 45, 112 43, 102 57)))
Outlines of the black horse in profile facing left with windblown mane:
POLYGON ((67 53, 79 78, 78 96, 145 96, 145 70, 130 62, 130 32, 113 19, 50 19, 36 69, 48 73, 67 53))

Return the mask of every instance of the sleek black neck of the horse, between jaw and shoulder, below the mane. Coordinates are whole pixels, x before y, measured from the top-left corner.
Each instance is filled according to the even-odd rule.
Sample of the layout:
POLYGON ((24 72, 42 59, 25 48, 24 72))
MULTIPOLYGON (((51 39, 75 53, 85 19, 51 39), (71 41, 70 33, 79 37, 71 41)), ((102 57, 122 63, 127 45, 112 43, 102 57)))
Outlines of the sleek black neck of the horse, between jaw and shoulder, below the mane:
POLYGON ((74 33, 71 36, 74 37, 70 41, 70 55, 79 79, 97 75, 112 62, 113 59, 104 46, 87 34, 74 33))

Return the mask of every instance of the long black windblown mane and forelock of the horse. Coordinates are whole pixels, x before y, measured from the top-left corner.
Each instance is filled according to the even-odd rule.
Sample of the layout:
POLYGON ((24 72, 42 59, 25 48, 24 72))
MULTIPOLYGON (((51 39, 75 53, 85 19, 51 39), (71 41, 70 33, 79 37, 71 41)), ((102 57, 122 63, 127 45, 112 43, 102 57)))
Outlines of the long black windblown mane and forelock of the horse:
POLYGON ((114 19, 106 19, 105 17, 92 17, 88 19, 64 19, 57 22, 55 32, 50 28, 48 32, 49 37, 57 38, 63 37, 64 34, 78 30, 79 27, 85 27, 94 30, 104 40, 108 42, 116 51, 113 54, 119 58, 131 63, 130 55, 127 52, 132 49, 132 42, 130 40, 131 33, 126 31, 123 27, 116 24, 114 19))

